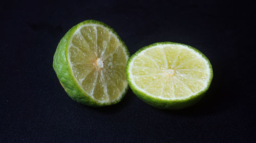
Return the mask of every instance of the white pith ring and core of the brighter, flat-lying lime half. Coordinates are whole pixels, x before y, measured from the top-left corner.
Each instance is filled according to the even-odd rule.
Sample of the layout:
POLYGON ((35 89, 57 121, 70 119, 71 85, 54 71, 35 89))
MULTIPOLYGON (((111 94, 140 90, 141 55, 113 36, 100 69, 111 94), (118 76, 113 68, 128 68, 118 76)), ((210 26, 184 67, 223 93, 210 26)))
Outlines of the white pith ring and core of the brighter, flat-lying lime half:
MULTIPOLYGON (((185 96, 185 97, 165 98, 165 97, 161 97, 160 95, 153 95, 153 94, 151 94, 151 93, 148 93, 148 92, 146 92, 144 89, 138 87, 138 85, 137 85, 137 84, 135 83, 135 81, 134 81, 134 75, 132 74, 132 69, 133 69, 133 65, 134 65, 134 60, 136 59, 136 57, 137 57, 138 55, 144 54, 147 50, 150 50, 150 49, 153 49, 153 48, 160 48, 160 49, 162 49, 162 48, 164 48, 164 47, 172 46, 172 45, 176 45, 176 46, 177 46, 177 44, 158 44, 158 45, 156 45, 156 46, 152 46, 152 47, 146 48, 146 49, 142 50, 141 52, 139 52, 136 56, 134 56, 133 59, 130 61, 130 63, 129 63, 129 69, 127 70, 127 72, 129 73, 129 77, 128 77, 128 78, 129 78, 130 82, 132 83, 132 85, 133 85, 138 91, 144 93, 145 95, 152 96, 152 97, 154 97, 154 98, 159 98, 159 99, 163 99, 163 100, 177 100, 177 99, 186 99, 186 98, 189 98, 189 97, 191 97, 191 96, 195 96, 195 95, 197 95, 198 93, 204 91, 204 90, 208 87, 208 82, 209 82, 209 80, 210 80, 210 74, 211 74, 208 61, 207 61, 205 58, 203 58, 203 56, 202 56, 200 53, 198 53, 196 50, 191 49, 191 48, 189 48, 189 47, 187 47, 187 46, 185 46, 185 45, 179 45, 179 46, 180 46, 181 48, 186 48, 186 49, 188 49, 190 52, 196 54, 196 55, 198 56, 198 58, 202 59, 202 60, 205 62, 205 64, 207 65, 206 72, 208 73, 208 77, 207 77, 207 79, 205 80, 204 86, 203 86, 203 88, 202 88, 200 91, 193 92, 193 93, 191 93, 190 95, 187 95, 187 96, 185 96)), ((159 67, 156 67, 156 68, 159 68, 159 67)), ((175 71, 174 71, 173 69, 165 69, 164 74, 166 74, 166 75, 172 77, 173 74, 174 74, 174 72, 175 72, 175 71)), ((149 73, 149 74, 150 74, 150 73, 149 73)), ((180 74, 180 73, 175 73, 175 74, 180 74)))

